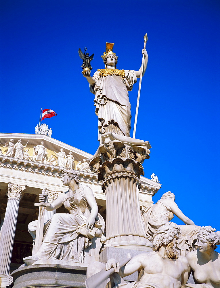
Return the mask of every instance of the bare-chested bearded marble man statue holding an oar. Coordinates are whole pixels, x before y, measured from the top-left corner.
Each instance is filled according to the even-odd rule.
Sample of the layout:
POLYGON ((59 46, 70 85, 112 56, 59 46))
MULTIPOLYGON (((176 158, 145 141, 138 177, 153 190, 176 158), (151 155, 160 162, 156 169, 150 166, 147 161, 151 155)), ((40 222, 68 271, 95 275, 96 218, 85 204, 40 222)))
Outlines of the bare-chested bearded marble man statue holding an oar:
MULTIPOLYGON (((100 262, 89 264, 87 277, 101 270, 114 268, 120 277, 138 271, 137 282, 125 283, 123 279, 111 279, 111 286, 118 288, 180 288, 183 284, 182 274, 188 270, 188 261, 180 256, 176 249, 179 227, 174 223, 161 226, 154 235, 153 251, 134 256, 125 266, 119 269, 115 259, 109 259, 104 265, 100 262), (98 271, 99 270, 99 271, 98 271)), ((98 280, 98 279, 97 279, 98 280)), ((89 287, 88 287, 89 288, 89 287)))

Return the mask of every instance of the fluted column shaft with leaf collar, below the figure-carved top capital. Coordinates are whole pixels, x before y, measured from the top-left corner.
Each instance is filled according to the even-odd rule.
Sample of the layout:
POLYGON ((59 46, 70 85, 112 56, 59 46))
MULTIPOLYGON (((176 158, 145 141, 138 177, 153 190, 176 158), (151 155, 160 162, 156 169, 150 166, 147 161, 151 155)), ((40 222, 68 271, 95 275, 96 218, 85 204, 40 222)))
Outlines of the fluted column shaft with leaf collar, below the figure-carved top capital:
POLYGON ((138 199, 143 166, 133 159, 115 158, 102 164, 99 172, 106 194, 106 244, 147 244, 138 199))

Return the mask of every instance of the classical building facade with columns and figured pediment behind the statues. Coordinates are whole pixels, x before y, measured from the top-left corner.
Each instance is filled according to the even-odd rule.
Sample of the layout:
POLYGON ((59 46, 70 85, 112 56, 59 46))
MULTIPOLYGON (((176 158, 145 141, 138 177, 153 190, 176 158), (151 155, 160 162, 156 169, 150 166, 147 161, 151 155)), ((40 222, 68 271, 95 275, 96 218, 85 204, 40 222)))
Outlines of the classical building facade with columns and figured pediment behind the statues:
MULTIPOLYGON (((102 181, 98 181, 87 162, 91 154, 43 134, 0 133, 0 148, 0 243, 3 245, 0 248, 5 251, 0 273, 16 270, 23 264, 23 257, 32 254, 32 236, 27 227, 38 219, 38 207, 34 204, 39 202, 42 189, 49 202, 66 191, 61 182, 62 171, 66 168, 78 171, 80 186, 91 187, 99 213, 106 220, 102 181)), ((140 182, 139 205, 143 213, 153 204, 152 196, 161 185, 143 176, 140 182)), ((56 213, 68 211, 62 206, 56 213)), ((48 219, 51 216, 45 215, 48 219)))

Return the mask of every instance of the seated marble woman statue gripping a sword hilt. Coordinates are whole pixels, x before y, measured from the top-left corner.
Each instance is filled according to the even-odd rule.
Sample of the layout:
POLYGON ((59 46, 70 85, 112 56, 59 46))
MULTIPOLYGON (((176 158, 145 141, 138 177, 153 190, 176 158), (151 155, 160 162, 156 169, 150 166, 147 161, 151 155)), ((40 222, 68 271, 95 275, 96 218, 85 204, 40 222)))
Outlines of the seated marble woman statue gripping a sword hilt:
MULTIPOLYGON (((62 183, 69 189, 59 194, 46 208, 47 211, 53 211, 64 205, 69 213, 56 213, 45 224, 39 251, 23 259, 28 265, 34 264, 37 260, 49 259, 83 263, 85 253, 90 247, 96 249, 99 255, 105 241, 105 222, 98 213, 91 188, 79 187, 78 175, 72 171, 62 172, 62 183)), ((43 193, 39 195, 40 202, 48 202, 45 196, 43 193)))

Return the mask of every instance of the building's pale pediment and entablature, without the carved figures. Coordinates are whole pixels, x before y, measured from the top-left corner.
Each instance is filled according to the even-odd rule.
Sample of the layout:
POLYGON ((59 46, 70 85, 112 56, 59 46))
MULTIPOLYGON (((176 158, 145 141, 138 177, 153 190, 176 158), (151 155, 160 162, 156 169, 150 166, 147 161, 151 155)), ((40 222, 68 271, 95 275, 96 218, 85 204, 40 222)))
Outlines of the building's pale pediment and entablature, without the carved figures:
MULTIPOLYGON (((44 187, 48 186, 50 189, 54 190, 62 190, 64 191, 65 187, 62 185, 60 181, 62 171, 66 169, 64 166, 51 165, 47 162, 49 157, 53 155, 56 159, 56 153, 60 152, 62 148, 66 155, 69 152, 72 152, 74 157, 74 166, 79 163, 79 161, 83 162, 83 159, 91 158, 91 154, 77 149, 71 145, 53 139, 44 134, 22 134, 22 133, 0 133, 0 148, 3 155, 0 155, 0 167, 4 169, 2 173, 0 173, 0 188, 5 189, 8 181, 17 181, 18 183, 23 183, 24 179, 27 183, 26 190, 28 193, 36 193, 38 194, 40 190, 44 187), (3 147, 7 141, 14 139, 14 144, 21 139, 22 145, 27 146, 25 149, 28 149, 28 153, 30 157, 35 153, 33 146, 40 145, 43 141, 43 145, 47 149, 47 155, 43 161, 36 160, 25 160, 19 159, 15 157, 5 156, 7 152, 7 147, 3 147), (6 169, 6 170, 5 170, 6 169), (11 172, 8 171, 11 170, 11 172), (7 172, 8 171, 8 172, 7 172), (4 173, 3 173, 4 172, 4 173), (37 178, 36 178, 36 175, 37 178), (39 179, 37 181, 36 179, 39 179), (45 186, 46 185, 46 186, 45 186)), ((14 156, 14 155, 13 155, 14 156)), ((102 183, 98 181, 97 175, 95 173, 91 173, 91 171, 78 171, 80 182, 85 185, 91 185, 91 188, 94 193, 97 193, 98 198, 105 198, 101 185, 102 183)), ((140 177, 141 189, 139 191, 140 202, 145 201, 144 195, 149 195, 150 197, 154 195, 161 187, 160 183, 154 182, 150 179, 147 179, 143 176, 140 177)), ((152 203, 152 200, 149 200, 149 204, 152 203)))

